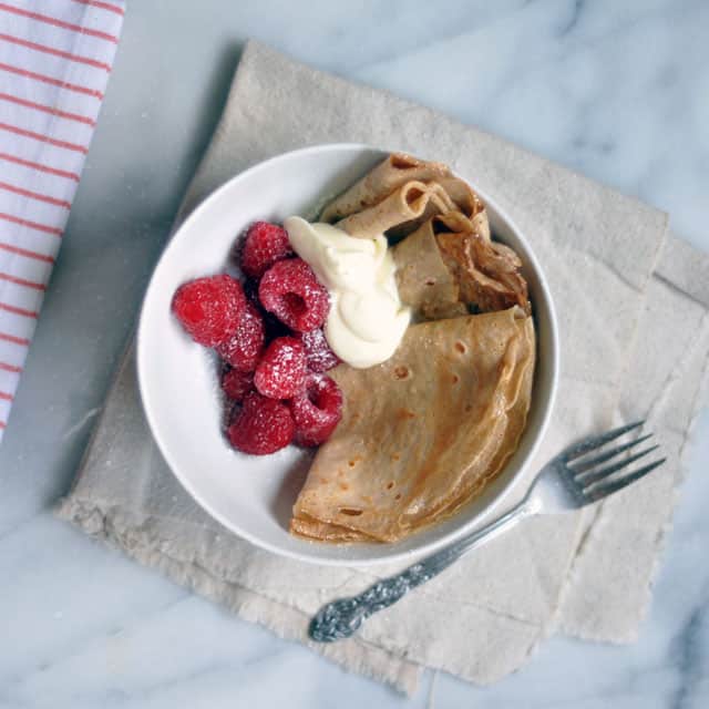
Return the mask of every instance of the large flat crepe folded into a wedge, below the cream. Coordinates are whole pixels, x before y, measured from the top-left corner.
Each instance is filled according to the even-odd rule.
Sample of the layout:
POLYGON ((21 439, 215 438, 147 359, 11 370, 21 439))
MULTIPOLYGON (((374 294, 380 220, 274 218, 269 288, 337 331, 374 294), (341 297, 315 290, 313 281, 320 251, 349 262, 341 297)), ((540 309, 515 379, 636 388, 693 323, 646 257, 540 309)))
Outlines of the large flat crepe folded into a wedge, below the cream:
POLYGON ((294 534, 395 542, 455 512, 516 449, 532 319, 518 307, 411 326, 387 362, 332 370, 342 420, 294 506, 294 534))

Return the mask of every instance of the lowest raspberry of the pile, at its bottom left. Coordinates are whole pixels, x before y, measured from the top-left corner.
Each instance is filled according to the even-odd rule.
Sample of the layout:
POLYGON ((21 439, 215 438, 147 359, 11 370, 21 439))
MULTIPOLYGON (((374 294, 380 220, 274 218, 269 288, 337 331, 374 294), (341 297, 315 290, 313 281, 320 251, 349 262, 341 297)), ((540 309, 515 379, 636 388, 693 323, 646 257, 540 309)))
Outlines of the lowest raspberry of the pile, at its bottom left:
POLYGON ((253 392, 244 400, 227 436, 232 445, 244 453, 267 455, 288 445, 295 429, 286 404, 253 392))

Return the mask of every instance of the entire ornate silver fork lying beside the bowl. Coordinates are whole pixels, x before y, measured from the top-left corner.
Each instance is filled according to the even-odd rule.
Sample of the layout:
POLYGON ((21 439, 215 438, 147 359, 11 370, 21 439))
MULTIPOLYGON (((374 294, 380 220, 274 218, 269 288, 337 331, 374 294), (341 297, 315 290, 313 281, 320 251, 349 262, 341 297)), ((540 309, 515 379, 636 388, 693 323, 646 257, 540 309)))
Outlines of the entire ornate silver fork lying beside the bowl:
POLYGON ((310 637, 319 643, 332 643, 348 638, 357 631, 366 618, 389 608, 409 590, 425 584, 461 556, 481 546, 483 542, 505 532, 524 517, 578 510, 640 480, 667 459, 662 458, 619 476, 616 473, 625 471, 628 465, 659 448, 658 445, 653 445, 607 465, 604 463, 608 463, 616 455, 630 451, 634 446, 647 441, 653 435, 651 433, 616 445, 612 450, 600 452, 600 449, 610 441, 638 429, 644 423, 645 421, 637 421, 607 433, 590 435, 562 451, 537 473, 524 500, 510 512, 482 530, 427 556, 400 574, 376 583, 358 596, 340 598, 322 606, 310 621, 308 629, 310 637), (598 451, 598 454, 586 458, 588 453, 594 451, 598 451))

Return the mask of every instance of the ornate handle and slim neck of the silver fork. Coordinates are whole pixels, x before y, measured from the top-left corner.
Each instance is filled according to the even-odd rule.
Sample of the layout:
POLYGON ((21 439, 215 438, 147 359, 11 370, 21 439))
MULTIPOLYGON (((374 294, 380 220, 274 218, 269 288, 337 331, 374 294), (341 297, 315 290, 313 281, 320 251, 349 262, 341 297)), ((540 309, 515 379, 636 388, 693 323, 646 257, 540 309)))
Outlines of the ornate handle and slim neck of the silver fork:
POLYGON ((308 635, 318 643, 349 638, 366 618, 393 606, 412 588, 425 584, 471 549, 512 527, 524 516, 524 512, 525 503, 522 502, 481 530, 427 556, 395 576, 377 582, 357 596, 328 603, 310 621, 308 635))

